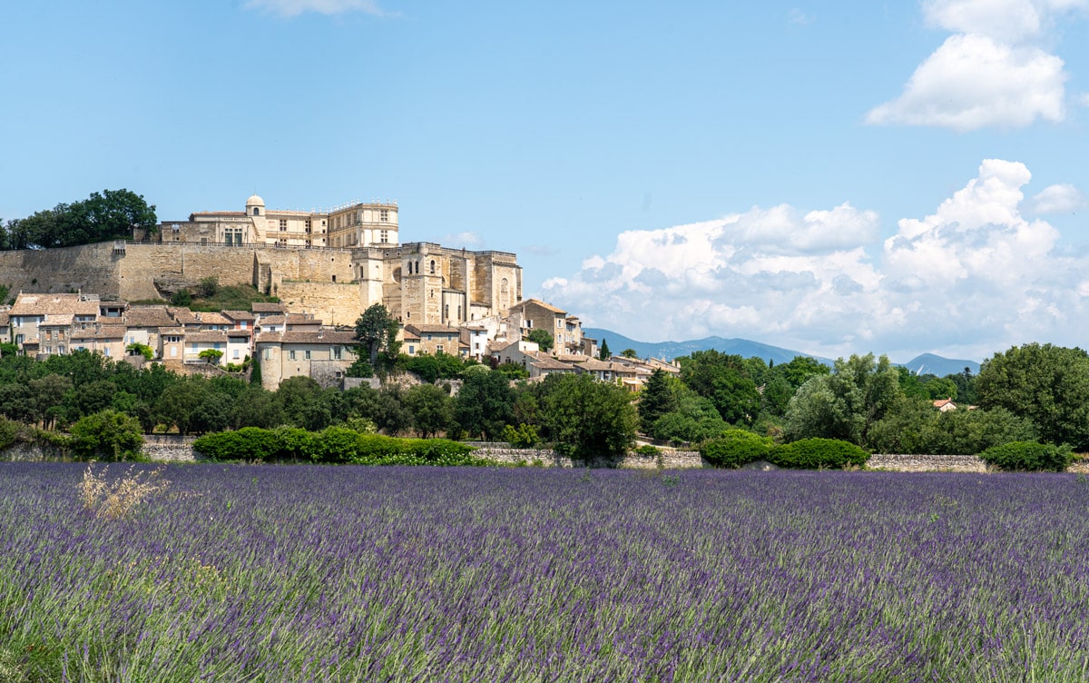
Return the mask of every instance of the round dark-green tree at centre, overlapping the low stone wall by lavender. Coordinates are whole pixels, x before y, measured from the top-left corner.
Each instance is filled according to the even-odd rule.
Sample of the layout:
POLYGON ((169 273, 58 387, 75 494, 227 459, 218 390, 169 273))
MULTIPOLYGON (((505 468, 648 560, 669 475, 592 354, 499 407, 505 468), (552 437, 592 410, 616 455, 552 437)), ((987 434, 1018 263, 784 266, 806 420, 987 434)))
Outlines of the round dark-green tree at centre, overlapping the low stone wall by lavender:
POLYGON ((635 406, 621 387, 563 374, 547 377, 542 391, 544 424, 558 452, 584 461, 615 458, 635 442, 635 406))

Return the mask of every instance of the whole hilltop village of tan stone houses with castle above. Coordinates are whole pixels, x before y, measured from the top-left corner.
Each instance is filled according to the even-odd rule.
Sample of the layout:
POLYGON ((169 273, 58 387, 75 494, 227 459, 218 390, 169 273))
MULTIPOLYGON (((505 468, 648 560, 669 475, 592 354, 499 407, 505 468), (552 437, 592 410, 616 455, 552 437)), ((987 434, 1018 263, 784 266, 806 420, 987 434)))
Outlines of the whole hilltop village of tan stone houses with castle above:
POLYGON ((0 340, 38 358, 76 350, 133 363, 150 355, 171 370, 205 375, 259 358, 267 389, 297 376, 344 387, 356 359, 355 320, 380 303, 400 324, 408 356, 510 363, 530 379, 585 373, 633 391, 656 367, 677 371, 599 358, 576 316, 523 300, 513 253, 401 243, 395 203, 290 211, 267 209, 253 195, 244 210, 194 212, 135 231, 132 241, 0 259, 0 281, 20 284, 14 302, 0 307, 0 340), (216 313, 168 303, 208 279, 252 284, 279 303, 216 313), (535 330, 551 337, 548 352, 529 340, 535 330))

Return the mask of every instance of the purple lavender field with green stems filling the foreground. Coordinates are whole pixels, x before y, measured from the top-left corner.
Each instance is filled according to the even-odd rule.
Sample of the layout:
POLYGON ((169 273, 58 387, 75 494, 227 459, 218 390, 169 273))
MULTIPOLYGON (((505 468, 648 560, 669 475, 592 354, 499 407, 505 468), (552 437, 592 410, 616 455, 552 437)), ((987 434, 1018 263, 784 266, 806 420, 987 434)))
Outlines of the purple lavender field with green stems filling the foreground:
POLYGON ((0 681, 1075 681, 1074 475, 0 464, 0 681), (122 471, 119 469, 117 474, 122 471))

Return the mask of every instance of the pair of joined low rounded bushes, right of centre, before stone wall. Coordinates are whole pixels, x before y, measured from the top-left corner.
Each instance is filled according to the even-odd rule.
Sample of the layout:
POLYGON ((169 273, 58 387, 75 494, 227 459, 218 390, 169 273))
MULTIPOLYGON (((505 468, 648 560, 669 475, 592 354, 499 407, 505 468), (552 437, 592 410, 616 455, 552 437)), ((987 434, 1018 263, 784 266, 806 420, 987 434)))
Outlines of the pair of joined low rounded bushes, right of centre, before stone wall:
POLYGON ((705 441, 699 454, 718 467, 741 467, 767 460, 792 469, 842 469, 861 467, 870 454, 854 443, 837 439, 802 439, 775 446, 768 437, 744 429, 730 429, 718 439, 705 441))

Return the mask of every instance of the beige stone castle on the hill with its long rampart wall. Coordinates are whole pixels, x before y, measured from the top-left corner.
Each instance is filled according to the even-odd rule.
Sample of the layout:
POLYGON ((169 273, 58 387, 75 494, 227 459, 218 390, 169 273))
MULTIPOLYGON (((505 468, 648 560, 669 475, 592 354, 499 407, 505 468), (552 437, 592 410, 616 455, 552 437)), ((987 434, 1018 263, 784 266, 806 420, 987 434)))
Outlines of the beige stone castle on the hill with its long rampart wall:
POLYGON ((395 203, 306 212, 267 209, 253 195, 243 211, 194 212, 132 242, 0 252, 0 283, 13 293, 83 290, 148 301, 213 277, 337 326, 381 303, 404 325, 460 327, 522 301, 515 254, 399 236, 395 203))

